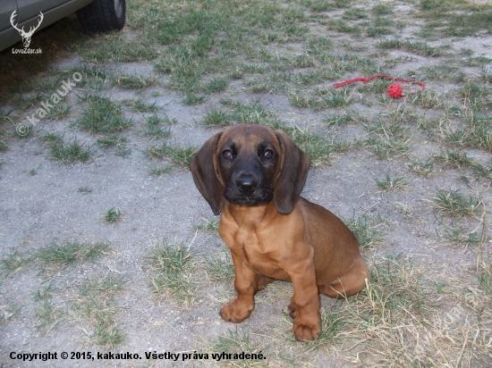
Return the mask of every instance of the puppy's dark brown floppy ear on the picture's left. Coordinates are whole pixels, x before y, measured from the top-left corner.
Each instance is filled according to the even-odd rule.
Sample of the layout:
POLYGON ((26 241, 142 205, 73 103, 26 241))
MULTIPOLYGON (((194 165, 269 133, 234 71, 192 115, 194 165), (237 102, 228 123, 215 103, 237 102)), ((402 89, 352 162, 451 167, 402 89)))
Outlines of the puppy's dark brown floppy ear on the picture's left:
POLYGON ((216 133, 208 138, 207 142, 199 149, 197 155, 190 163, 195 185, 199 188, 201 195, 212 207, 214 214, 219 214, 224 208, 223 183, 218 179, 216 172, 216 148, 222 132, 216 133))

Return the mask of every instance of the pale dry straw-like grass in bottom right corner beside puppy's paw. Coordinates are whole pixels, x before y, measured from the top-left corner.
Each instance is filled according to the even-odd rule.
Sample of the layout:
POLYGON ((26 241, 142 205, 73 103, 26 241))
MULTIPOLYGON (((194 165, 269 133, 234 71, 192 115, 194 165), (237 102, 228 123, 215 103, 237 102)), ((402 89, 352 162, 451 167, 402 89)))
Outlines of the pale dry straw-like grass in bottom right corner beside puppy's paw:
MULTIPOLYGON (((492 353, 490 294, 449 285, 437 295, 423 268, 378 259, 365 293, 323 311, 319 347, 363 366, 486 366, 492 353), (447 299, 447 300, 446 300, 447 299), (486 365, 481 365, 486 364, 486 365)), ((490 280, 490 263, 482 267, 490 280)), ((439 288, 437 288, 439 289, 439 288)), ((442 289, 442 287, 441 287, 442 289)))

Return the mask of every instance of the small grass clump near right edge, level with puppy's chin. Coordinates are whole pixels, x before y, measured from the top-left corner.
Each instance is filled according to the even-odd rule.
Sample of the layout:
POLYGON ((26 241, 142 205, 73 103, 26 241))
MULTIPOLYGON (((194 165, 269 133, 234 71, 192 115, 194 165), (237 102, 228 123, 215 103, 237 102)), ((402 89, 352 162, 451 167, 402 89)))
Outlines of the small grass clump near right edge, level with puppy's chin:
POLYGON ((456 189, 437 189, 434 204, 438 212, 445 212, 454 217, 479 215, 483 208, 480 197, 463 195, 456 189))

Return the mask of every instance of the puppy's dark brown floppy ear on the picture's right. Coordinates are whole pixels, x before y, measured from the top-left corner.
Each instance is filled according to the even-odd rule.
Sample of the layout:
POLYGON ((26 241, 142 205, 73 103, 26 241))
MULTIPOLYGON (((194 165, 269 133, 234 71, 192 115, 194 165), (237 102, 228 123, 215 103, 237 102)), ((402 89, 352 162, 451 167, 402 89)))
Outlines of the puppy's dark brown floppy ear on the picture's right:
POLYGON ((274 185, 274 205, 279 213, 289 214, 301 196, 310 170, 310 157, 283 131, 276 130, 276 138, 281 153, 280 172, 274 185))

